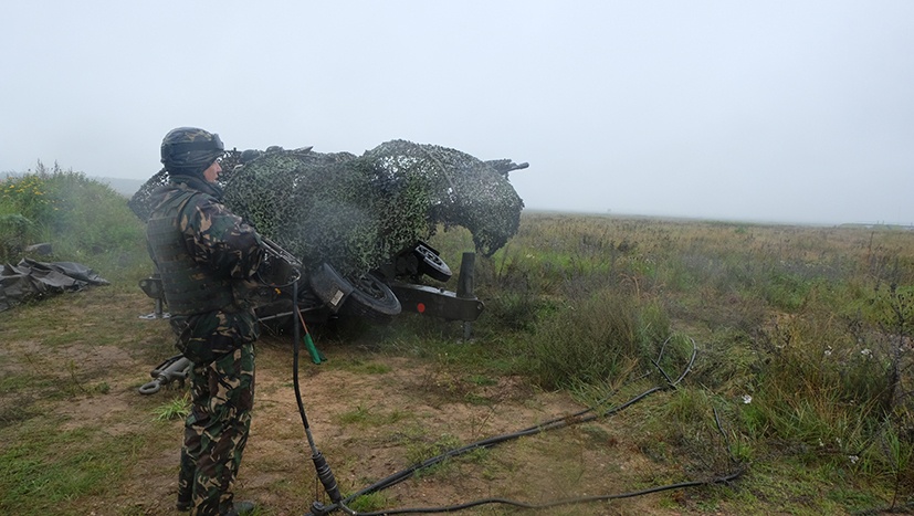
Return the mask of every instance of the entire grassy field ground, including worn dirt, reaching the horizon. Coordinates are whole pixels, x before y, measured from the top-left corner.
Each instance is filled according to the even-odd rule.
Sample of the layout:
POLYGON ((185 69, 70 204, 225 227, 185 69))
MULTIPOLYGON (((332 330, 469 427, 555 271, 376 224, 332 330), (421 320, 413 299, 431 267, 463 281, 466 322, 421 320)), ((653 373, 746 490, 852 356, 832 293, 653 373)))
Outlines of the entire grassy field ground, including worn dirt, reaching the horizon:
MULTIPOLYGON (((136 392, 174 354, 167 324, 137 317, 153 309, 136 286, 143 224, 106 186, 40 166, 0 182, 0 241, 4 262, 48 241, 40 260, 112 282, 0 313, 0 513, 177 514, 186 389, 136 392)), ((430 243, 455 272, 473 249, 461 228, 430 243)), ((914 510, 910 229, 526 211, 475 264, 486 308, 470 340, 460 323, 409 313, 311 328, 328 361, 302 365, 304 398, 344 495, 475 440, 618 411, 449 459, 354 506, 547 502, 740 472, 537 514, 914 510)), ((267 515, 305 513, 316 489, 287 340, 265 331, 259 345, 240 474, 240 496, 267 515)))

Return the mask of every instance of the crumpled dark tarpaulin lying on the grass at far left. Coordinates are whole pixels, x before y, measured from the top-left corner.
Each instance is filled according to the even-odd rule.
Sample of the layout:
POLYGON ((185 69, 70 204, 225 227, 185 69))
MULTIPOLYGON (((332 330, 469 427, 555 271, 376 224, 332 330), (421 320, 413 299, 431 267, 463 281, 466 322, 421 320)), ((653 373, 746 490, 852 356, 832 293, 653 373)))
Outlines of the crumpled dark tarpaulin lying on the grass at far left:
POLYGON ((107 284, 92 268, 75 262, 22 259, 17 265, 0 266, 0 312, 27 301, 107 284))

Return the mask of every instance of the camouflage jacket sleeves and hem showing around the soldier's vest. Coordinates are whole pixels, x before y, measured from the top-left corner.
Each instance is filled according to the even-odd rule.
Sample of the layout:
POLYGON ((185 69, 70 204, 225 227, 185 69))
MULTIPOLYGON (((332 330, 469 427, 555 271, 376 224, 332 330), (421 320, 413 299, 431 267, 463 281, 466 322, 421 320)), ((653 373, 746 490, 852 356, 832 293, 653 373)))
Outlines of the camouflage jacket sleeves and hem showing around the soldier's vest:
MULTIPOLYGON (((242 292, 264 257, 260 235, 220 202, 221 191, 196 177, 175 176, 171 182, 153 193, 156 208, 150 220, 161 217, 179 198, 190 197, 174 224, 180 232, 183 250, 208 276, 225 280, 233 292, 242 292), (235 288, 237 287, 237 288, 235 288)), ((156 249, 149 254, 157 262, 156 249)), ((158 263, 158 262, 157 262, 158 263)), ((165 278, 162 278, 165 281, 165 278)), ((221 355, 259 337, 256 316, 240 294, 219 309, 192 315, 172 315, 171 326, 178 335, 177 347, 195 364, 209 364, 221 355)))

